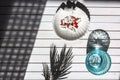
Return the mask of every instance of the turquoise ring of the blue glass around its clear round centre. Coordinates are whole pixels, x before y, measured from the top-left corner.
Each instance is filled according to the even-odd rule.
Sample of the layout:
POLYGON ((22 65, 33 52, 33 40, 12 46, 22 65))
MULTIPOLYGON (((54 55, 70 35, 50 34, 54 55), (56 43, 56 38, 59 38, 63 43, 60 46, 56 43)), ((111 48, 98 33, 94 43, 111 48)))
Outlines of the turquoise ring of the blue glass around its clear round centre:
POLYGON ((90 73, 94 75, 103 75, 107 73, 111 67, 111 58, 107 52, 100 49, 94 49, 88 53, 85 64, 90 73), (89 61, 90 57, 94 54, 98 55, 101 58, 101 63, 99 64, 99 66, 97 66, 97 68, 92 66, 89 61))

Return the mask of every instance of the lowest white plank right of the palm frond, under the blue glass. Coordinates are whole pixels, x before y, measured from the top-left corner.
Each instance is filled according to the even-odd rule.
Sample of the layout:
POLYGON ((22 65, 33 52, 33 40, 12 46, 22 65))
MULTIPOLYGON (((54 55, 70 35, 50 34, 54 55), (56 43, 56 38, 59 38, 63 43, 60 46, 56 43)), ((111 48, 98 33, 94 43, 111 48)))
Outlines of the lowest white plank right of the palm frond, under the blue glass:
POLYGON ((112 79, 114 79, 114 80, 117 80, 119 77, 119 73, 106 73, 106 74, 104 74, 104 75, 101 75, 101 76, 96 76, 96 75, 93 75, 93 74, 91 74, 91 73, 89 73, 89 72, 87 72, 87 73, 84 73, 84 72, 82 72, 82 73, 71 73, 71 74, 69 74, 68 75, 68 78, 67 79, 73 79, 73 80, 76 80, 76 79, 78 79, 78 80, 81 80, 81 79, 85 79, 85 80, 90 80, 90 79, 93 79, 93 80, 106 80, 106 79, 109 79, 109 80, 112 80, 112 79))

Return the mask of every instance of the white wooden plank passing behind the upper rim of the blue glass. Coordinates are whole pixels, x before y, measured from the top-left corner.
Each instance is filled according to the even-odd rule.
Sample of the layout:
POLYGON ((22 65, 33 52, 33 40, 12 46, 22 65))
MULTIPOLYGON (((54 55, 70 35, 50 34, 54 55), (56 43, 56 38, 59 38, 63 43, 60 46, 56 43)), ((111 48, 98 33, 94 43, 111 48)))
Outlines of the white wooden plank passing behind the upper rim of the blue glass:
MULTIPOLYGON (((68 49, 68 48, 67 48, 68 49)), ((61 48, 57 48, 58 51, 61 51, 61 48)), ((86 55, 86 48, 73 48, 72 52, 75 56, 86 55)), ((119 49, 108 49, 107 51, 111 56, 120 55, 119 49)), ((32 55, 49 55, 50 48, 33 48, 32 55)))

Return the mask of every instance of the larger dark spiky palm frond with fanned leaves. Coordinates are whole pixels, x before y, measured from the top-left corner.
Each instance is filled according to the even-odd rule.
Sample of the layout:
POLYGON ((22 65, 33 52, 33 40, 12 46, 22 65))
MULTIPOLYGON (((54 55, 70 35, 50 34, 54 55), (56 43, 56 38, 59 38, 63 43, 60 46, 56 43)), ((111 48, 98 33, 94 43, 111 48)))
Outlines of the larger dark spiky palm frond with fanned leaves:
POLYGON ((52 80, 66 79, 66 75, 70 73, 68 71, 72 64, 72 48, 66 52, 66 45, 62 48, 61 53, 58 54, 56 46, 53 45, 50 49, 50 65, 52 80))

